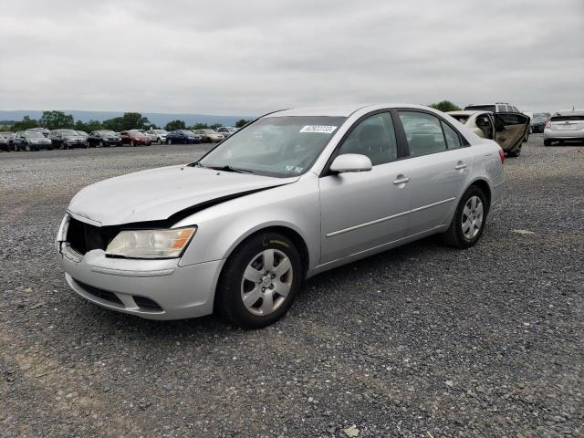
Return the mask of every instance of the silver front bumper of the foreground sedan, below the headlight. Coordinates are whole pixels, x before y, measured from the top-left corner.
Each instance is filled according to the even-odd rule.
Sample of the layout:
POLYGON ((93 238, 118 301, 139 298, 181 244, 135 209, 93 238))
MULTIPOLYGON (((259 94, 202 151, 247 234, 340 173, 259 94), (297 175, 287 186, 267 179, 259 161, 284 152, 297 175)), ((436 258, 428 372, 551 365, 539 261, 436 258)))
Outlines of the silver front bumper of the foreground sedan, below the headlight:
POLYGON ((58 241, 57 250, 69 287, 101 307, 147 319, 213 313, 224 260, 179 266, 179 259, 110 258, 100 249, 80 255, 67 242, 58 241))

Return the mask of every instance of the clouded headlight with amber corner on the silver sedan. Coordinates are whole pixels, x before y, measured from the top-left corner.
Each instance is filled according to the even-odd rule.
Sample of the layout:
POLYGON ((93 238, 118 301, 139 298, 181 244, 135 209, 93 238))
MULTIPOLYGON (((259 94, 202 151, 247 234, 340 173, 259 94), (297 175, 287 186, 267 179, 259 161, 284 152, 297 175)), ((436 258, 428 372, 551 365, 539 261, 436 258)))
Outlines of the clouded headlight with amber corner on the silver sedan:
POLYGON ((120 231, 108 245, 106 255, 130 258, 179 257, 196 231, 196 227, 120 231))

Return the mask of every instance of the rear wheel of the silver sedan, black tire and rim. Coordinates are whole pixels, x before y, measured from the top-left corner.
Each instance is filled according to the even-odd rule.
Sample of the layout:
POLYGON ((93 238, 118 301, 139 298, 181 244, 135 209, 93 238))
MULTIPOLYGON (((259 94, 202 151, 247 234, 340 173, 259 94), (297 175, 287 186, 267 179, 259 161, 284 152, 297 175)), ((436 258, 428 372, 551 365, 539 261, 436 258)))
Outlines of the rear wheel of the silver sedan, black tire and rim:
POLYGON ((471 185, 464 192, 456 207, 453 222, 442 235, 443 242, 460 249, 475 245, 483 235, 488 211, 489 205, 486 202, 485 193, 477 186, 471 185), (479 201, 480 203, 478 203, 479 201), (480 213, 478 213, 479 208, 480 213), (464 228, 466 228, 466 232, 464 228))

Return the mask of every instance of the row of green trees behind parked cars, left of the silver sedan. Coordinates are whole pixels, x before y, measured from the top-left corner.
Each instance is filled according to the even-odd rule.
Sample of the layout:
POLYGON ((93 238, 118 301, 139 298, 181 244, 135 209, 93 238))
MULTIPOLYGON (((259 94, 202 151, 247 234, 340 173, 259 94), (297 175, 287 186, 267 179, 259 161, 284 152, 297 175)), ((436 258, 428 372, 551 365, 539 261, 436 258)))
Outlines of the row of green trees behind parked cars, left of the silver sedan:
MULTIPOLYGON (((240 119, 235 123, 235 128, 241 128, 249 123, 251 120, 240 119)), ((186 126, 183 120, 169 121, 165 126, 165 130, 203 130, 204 128, 211 128, 216 130, 223 126, 221 123, 214 123, 207 125, 206 123, 195 123, 193 126, 186 126)), ((23 120, 18 120, 12 126, 5 126, 4 130, 28 130, 30 128, 47 128, 47 130, 83 130, 91 132, 92 130, 158 130, 160 127, 151 123, 147 117, 143 117, 140 112, 125 112, 123 116, 114 117, 108 120, 89 120, 88 122, 82 120, 74 120, 70 114, 65 114, 63 111, 43 111, 40 119, 31 119, 25 116, 23 120)))

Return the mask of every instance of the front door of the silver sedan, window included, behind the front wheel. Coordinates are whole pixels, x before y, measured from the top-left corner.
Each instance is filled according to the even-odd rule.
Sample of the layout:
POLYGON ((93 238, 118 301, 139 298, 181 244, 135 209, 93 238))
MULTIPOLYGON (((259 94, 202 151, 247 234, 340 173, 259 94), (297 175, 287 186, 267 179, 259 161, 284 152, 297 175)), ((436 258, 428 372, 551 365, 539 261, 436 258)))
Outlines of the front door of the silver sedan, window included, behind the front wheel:
POLYGON ((397 151, 391 114, 381 112, 357 122, 335 152, 367 155, 373 168, 320 178, 321 264, 405 236, 411 200, 397 151))

